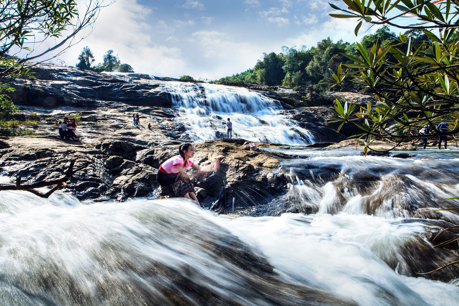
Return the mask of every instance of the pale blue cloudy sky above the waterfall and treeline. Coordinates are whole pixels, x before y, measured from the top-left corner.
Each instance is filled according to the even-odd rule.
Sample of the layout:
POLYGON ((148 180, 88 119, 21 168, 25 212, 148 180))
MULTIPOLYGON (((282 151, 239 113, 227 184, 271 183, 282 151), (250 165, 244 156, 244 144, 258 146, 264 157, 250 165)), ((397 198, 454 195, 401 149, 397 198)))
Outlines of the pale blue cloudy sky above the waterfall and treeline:
POLYGON ((116 0, 59 59, 74 66, 88 45, 95 63, 112 49, 139 73, 219 79, 283 45, 310 48, 328 36, 354 42, 376 30, 362 27, 355 37, 355 20, 328 16, 333 11, 324 0, 116 0))

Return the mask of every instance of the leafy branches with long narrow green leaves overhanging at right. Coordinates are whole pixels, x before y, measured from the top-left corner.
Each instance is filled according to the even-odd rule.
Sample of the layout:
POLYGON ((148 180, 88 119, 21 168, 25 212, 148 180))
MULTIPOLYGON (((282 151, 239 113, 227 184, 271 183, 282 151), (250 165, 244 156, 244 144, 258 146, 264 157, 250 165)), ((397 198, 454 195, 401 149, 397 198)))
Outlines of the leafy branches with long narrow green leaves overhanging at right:
POLYGON ((358 56, 347 55, 353 63, 342 64, 347 68, 339 65, 330 83, 345 87, 345 79, 351 79, 375 102, 357 108, 355 103, 342 105, 337 101, 330 109, 336 115, 335 122, 358 126, 365 152, 375 137, 393 141, 394 147, 419 138, 413 131, 425 124, 438 135, 436 121, 441 118, 447 119, 451 128, 442 136, 457 133, 459 4, 452 0, 336 1, 345 3, 345 8, 330 4, 341 11, 330 16, 357 18, 355 34, 363 22, 410 32, 399 34, 397 42, 384 50, 376 44, 367 50, 357 43, 358 56), (402 17, 417 20, 406 25, 407 18, 402 22, 402 17))

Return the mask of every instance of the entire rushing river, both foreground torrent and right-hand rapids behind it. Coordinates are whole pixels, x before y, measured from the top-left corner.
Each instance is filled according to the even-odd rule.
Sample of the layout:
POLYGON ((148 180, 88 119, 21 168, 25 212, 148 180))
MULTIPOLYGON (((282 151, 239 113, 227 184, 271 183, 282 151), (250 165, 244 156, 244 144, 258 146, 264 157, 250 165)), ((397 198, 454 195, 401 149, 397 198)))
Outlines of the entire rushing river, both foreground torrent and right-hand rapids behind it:
POLYGON ((440 199, 459 193, 458 152, 434 151, 396 159, 283 150, 300 157, 279 170, 291 178, 285 201, 315 214, 1 192, 0 304, 457 305, 459 279, 409 272, 423 267, 410 247, 430 249, 425 232, 438 228, 412 215, 457 206, 440 199))

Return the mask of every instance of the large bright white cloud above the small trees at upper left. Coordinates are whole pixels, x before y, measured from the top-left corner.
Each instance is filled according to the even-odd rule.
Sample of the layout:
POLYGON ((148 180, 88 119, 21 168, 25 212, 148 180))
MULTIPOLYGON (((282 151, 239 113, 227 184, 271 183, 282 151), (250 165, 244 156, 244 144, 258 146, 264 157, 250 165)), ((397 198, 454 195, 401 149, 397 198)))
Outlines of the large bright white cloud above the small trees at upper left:
MULTIPOLYGON (((62 54, 59 59, 74 66, 78 62, 78 54, 87 45, 94 53, 95 63, 102 62, 103 54, 112 49, 121 62, 128 63, 136 72, 179 76, 181 67, 187 66, 182 59, 182 51, 178 47, 156 43, 156 37, 151 35, 157 31, 153 31, 150 24, 142 21, 148 20, 150 14, 148 7, 135 0, 117 0, 101 10, 93 33, 62 54)), ((168 26, 164 22, 158 24, 168 26)))

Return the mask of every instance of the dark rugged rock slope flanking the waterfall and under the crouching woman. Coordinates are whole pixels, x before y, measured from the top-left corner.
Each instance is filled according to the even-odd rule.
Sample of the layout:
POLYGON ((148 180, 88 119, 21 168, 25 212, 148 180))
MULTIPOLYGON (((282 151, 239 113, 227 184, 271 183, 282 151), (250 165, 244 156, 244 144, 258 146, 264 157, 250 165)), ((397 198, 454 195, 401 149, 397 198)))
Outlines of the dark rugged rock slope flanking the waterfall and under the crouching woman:
MULTIPOLYGON (((151 79, 148 75, 109 75, 81 71, 72 67, 38 65, 29 79, 18 79, 11 95, 20 111, 17 119, 38 118, 36 124, 22 128, 33 136, 4 137, 0 171, 23 180, 53 179, 62 174, 69 160, 88 167, 75 175, 65 187, 81 200, 125 200, 132 197, 160 195, 156 171, 159 164, 177 154, 180 143, 187 141, 185 128, 174 120, 171 93, 162 84, 174 80, 151 79), (140 125, 133 125, 132 114, 140 113, 140 125), (58 137, 54 119, 77 117, 81 142, 58 137), (148 125, 151 127, 147 127, 148 125)), ((202 91, 199 84, 196 91, 202 91)), ((266 91, 254 88, 280 101, 293 95, 291 90, 266 91)), ((203 93, 204 94, 204 93, 203 93)), ((296 94, 298 95, 298 94, 296 94)), ((320 143, 315 147, 355 146, 353 141, 328 127, 322 115, 324 106, 292 108, 284 104, 286 115, 311 130, 320 143), (313 111, 310 108, 321 108, 313 111), (319 115, 316 115, 319 113, 319 115)), ((195 161, 205 165, 219 158, 221 169, 196 181, 202 204, 218 211, 249 209, 257 214, 263 205, 270 213, 293 210, 279 199, 286 192, 287 180, 279 174, 280 159, 294 156, 265 150, 250 151, 243 139, 216 139, 196 143, 195 161)), ((281 144, 257 143, 263 147, 281 144)), ((266 214, 266 211, 260 214, 266 214)))

